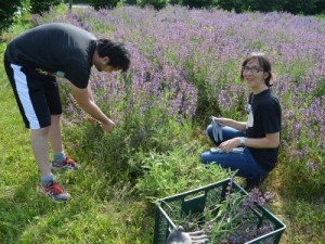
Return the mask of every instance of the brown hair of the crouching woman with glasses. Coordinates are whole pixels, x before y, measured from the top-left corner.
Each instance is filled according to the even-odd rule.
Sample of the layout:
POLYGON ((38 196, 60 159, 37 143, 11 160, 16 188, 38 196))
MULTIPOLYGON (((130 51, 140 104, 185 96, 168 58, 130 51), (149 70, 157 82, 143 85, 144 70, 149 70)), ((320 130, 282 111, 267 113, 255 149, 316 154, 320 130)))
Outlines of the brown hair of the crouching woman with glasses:
POLYGON ((268 87, 272 87, 273 86, 273 74, 272 74, 272 69, 271 69, 271 62, 268 59, 268 56, 265 55, 265 53, 262 53, 262 52, 252 52, 244 60, 244 62, 242 64, 240 79, 244 80, 243 67, 246 66, 246 64, 252 60, 257 60, 259 62, 260 67, 263 69, 263 72, 269 73, 269 76, 265 79, 265 85, 268 87))

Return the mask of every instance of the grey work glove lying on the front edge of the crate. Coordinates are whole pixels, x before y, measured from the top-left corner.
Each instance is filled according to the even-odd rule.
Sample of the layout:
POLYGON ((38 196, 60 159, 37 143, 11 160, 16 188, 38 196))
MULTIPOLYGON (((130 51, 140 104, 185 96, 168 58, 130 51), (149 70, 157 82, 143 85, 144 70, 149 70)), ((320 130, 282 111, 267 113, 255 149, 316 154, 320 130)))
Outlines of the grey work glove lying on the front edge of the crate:
POLYGON ((203 231, 183 232, 183 228, 178 227, 170 232, 166 244, 206 244, 208 241, 203 231))

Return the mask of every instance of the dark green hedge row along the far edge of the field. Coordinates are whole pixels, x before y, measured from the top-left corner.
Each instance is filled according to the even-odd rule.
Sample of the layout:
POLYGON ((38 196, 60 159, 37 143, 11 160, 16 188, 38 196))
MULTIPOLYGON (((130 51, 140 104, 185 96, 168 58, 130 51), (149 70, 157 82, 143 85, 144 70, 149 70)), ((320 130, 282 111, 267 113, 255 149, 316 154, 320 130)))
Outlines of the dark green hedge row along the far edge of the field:
MULTIPOLYGON (((69 0, 11 0, 3 1, 0 9, 0 34, 12 24, 18 10, 28 9, 32 14, 48 11, 51 5, 56 5, 69 0)), ((325 13, 325 0, 73 0, 74 3, 89 3, 95 10, 115 8, 118 4, 152 5, 162 9, 167 4, 187 5, 190 8, 220 8, 237 13, 246 11, 260 12, 290 12, 292 14, 322 14, 325 13)))

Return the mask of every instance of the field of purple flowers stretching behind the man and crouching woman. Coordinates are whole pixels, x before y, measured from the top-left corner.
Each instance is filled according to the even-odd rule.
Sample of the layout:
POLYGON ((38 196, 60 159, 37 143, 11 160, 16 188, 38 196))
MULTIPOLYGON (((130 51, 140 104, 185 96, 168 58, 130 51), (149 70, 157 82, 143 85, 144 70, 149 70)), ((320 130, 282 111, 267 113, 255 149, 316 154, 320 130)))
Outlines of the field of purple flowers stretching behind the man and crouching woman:
MULTIPOLYGON (((169 7, 119 8, 70 15, 49 13, 35 24, 67 22, 127 43, 127 76, 94 73, 96 100, 125 125, 133 141, 168 119, 198 121, 209 115, 239 119, 247 90, 239 65, 251 51, 271 55, 274 92, 283 107, 281 166, 294 190, 313 193, 325 184, 325 23, 288 13, 236 14, 169 7), (132 125, 126 125, 127 120, 132 125), (138 131, 138 132, 136 132, 138 131)), ((72 103, 68 103, 72 104, 72 103)), ((73 106, 69 119, 79 119, 73 106)), ((243 117, 244 118, 244 117, 243 117)), ((150 137, 150 134, 147 136, 150 137)))

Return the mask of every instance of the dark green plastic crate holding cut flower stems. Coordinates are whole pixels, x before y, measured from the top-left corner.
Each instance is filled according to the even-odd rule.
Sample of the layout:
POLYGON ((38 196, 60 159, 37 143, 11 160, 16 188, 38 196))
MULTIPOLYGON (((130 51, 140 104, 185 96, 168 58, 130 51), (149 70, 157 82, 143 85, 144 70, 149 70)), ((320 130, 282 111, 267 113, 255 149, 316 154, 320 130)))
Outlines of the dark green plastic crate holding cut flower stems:
MULTIPOLYGON (((176 228, 174 219, 180 219, 180 216, 184 214, 203 213, 206 206, 221 203, 225 197, 230 181, 231 179, 229 178, 194 191, 158 200, 156 205, 154 244, 166 244, 170 231, 176 228)), ((235 181, 233 181, 233 191, 247 195, 247 192, 235 181)), ((246 242, 246 244, 278 243, 286 226, 264 207, 256 206, 256 208, 251 208, 251 211, 257 217, 257 227, 268 221, 268 223, 272 226, 272 231, 246 242)))

